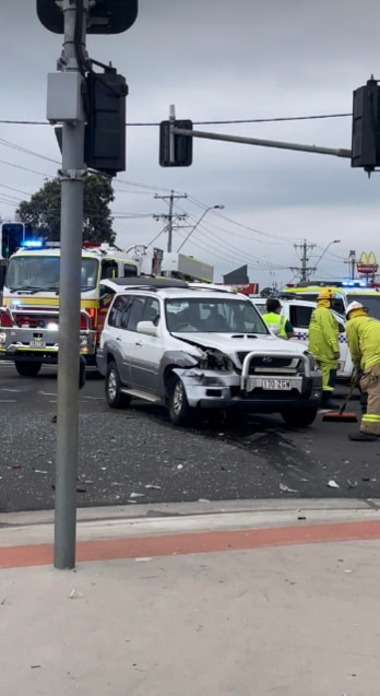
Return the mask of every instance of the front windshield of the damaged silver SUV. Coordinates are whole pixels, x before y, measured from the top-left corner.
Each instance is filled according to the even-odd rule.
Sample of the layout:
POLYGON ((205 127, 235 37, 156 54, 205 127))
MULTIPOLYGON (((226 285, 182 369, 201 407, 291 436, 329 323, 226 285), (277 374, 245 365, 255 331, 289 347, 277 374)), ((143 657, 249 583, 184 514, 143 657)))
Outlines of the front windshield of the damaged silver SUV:
POLYGON ((262 333, 269 329, 250 302, 203 297, 166 299, 167 328, 174 333, 262 333))

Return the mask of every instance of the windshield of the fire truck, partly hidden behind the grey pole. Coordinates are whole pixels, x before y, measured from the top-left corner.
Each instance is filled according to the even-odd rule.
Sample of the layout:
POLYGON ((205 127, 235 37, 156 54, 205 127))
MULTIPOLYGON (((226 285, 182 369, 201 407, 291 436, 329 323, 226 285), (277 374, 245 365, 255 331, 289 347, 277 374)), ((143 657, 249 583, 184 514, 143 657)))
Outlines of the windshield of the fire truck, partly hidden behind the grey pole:
MULTIPOLYGON (((59 256, 15 256, 10 260, 4 285, 10 292, 59 291, 59 256)), ((96 287, 98 263, 97 259, 82 259, 82 291, 96 287)))

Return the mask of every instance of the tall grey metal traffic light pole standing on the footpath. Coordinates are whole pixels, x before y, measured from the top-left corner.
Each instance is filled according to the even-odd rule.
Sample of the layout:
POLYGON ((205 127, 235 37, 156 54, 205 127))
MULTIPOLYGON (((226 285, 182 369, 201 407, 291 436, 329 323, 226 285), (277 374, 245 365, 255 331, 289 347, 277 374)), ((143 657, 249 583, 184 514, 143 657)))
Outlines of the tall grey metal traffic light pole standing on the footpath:
MULTIPOLYGON (((74 36, 76 2, 63 0, 67 70, 79 71, 74 36)), ((86 8, 84 2, 83 44, 86 8)), ((82 109, 82 107, 81 107, 82 109)), ((63 123, 61 175, 61 260, 57 403, 56 515, 54 565, 75 566, 76 477, 79 446, 79 362, 82 221, 84 182, 84 114, 63 123)))

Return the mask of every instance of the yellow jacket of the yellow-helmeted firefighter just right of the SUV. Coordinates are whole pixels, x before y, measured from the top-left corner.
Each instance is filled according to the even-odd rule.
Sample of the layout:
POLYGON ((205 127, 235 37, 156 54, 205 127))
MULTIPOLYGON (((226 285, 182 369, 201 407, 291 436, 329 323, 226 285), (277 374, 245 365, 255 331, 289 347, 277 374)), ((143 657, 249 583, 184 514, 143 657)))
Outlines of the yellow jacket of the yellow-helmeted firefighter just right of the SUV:
POLYGON ((317 361, 336 361, 334 353, 340 352, 339 335, 339 325, 331 310, 317 306, 309 323, 309 351, 317 361))

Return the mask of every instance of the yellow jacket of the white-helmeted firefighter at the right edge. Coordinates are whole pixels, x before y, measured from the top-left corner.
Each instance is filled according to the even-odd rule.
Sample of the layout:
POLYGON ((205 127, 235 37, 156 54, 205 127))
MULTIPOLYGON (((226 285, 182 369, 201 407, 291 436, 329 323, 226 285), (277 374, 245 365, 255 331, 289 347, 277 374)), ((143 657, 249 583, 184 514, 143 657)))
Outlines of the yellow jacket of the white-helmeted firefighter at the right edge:
POLYGON ((346 323, 351 357, 357 369, 380 363, 380 321, 368 316, 353 317, 346 323))

